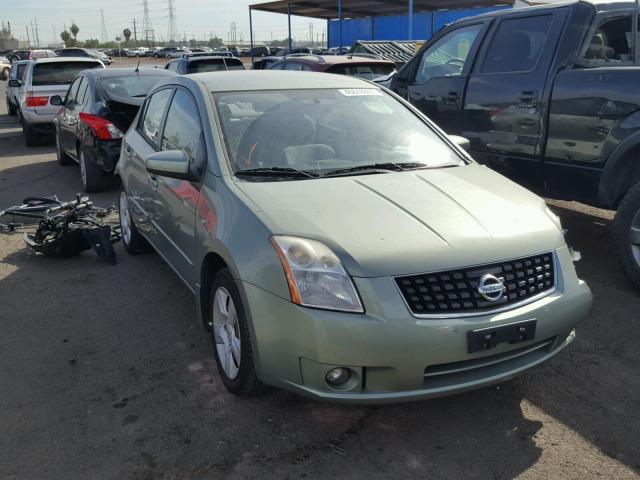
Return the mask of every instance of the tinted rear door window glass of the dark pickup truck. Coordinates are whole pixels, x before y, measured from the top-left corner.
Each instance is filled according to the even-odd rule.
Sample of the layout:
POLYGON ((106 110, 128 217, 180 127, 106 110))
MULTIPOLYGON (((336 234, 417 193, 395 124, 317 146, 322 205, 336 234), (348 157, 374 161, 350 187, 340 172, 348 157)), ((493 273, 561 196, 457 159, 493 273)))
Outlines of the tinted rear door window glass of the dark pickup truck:
POLYGON ((552 15, 506 19, 500 22, 482 73, 526 72, 533 70, 547 39, 552 15))

